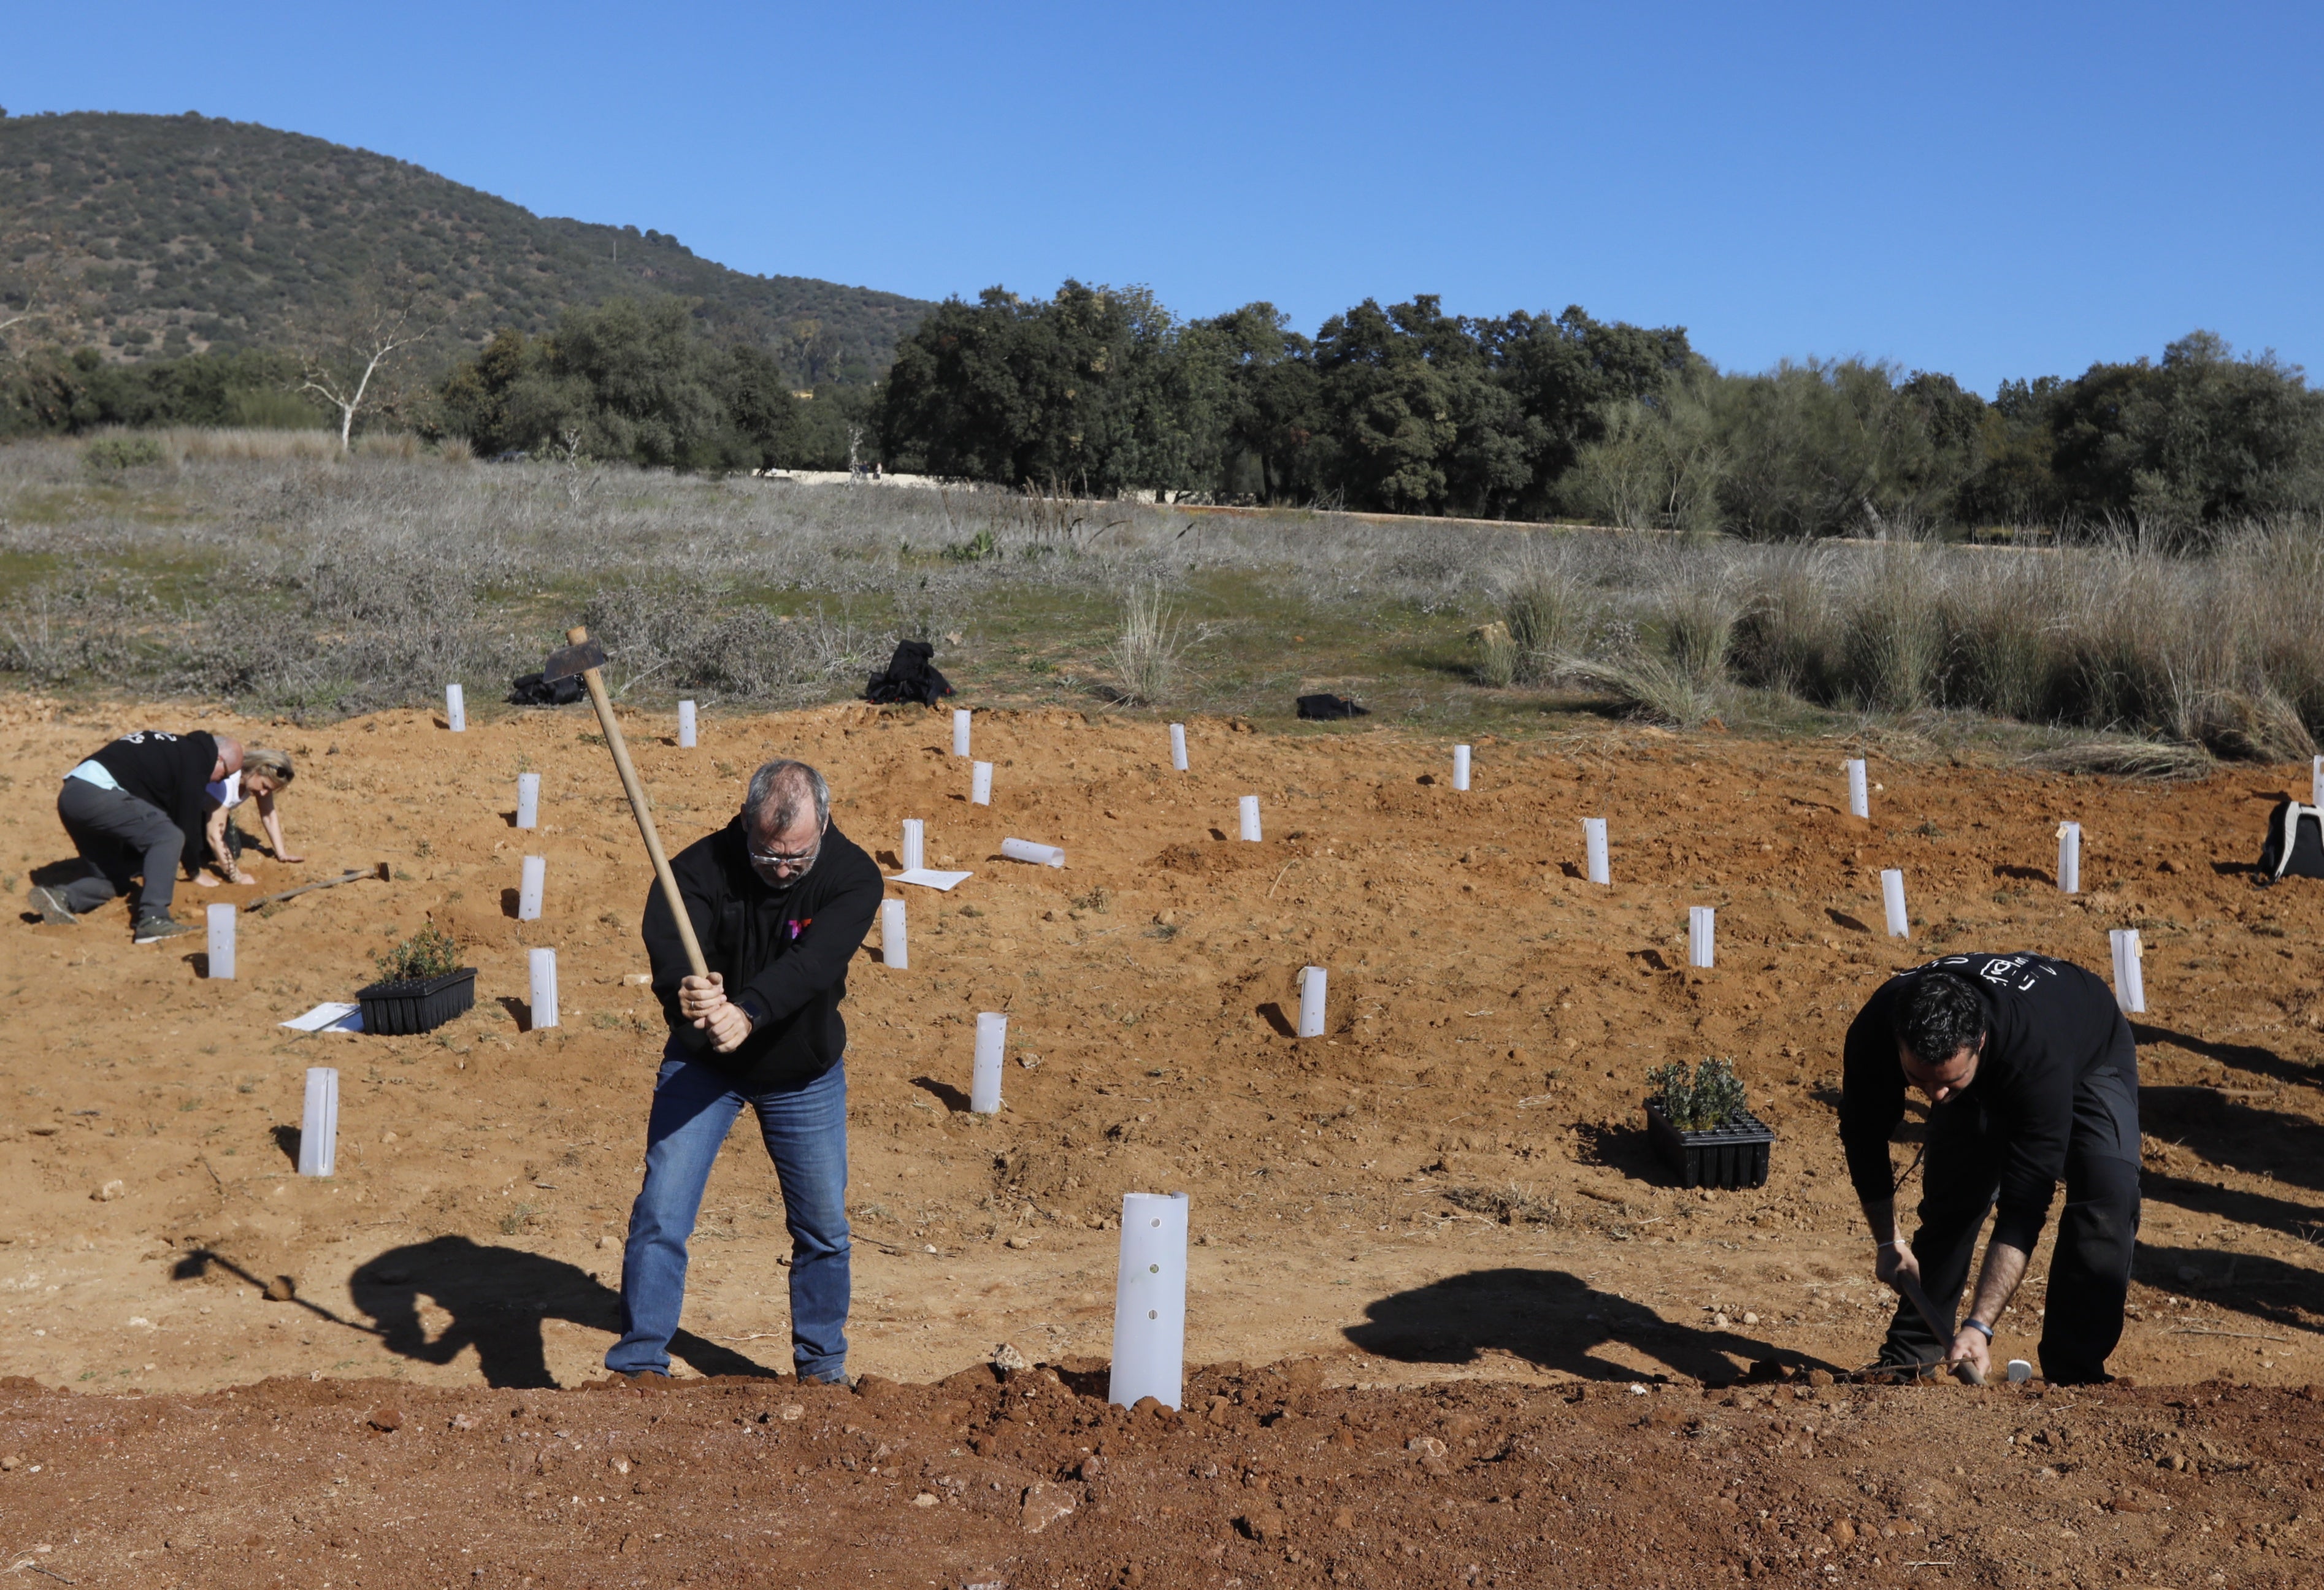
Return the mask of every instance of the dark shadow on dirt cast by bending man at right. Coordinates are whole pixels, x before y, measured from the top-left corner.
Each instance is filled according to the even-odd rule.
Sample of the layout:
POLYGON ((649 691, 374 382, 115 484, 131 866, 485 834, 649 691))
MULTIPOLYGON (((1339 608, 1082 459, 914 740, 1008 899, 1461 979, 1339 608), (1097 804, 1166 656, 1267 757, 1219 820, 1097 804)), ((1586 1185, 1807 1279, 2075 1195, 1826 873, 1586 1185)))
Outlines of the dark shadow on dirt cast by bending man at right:
POLYGON ((1652 1309, 1562 1269, 1471 1269, 1380 1297, 1364 1306, 1364 1316, 1362 1325, 1343 1332, 1348 1341, 1404 1365, 1473 1365, 1487 1351, 1501 1351, 1585 1381, 1641 1378, 1634 1367, 1599 1355, 1599 1348, 1620 1344, 1671 1374, 1713 1385, 1771 1360, 1838 1369, 1734 1330, 1671 1325, 1652 1309), (1745 1362, 1736 1365, 1736 1358, 1745 1362))

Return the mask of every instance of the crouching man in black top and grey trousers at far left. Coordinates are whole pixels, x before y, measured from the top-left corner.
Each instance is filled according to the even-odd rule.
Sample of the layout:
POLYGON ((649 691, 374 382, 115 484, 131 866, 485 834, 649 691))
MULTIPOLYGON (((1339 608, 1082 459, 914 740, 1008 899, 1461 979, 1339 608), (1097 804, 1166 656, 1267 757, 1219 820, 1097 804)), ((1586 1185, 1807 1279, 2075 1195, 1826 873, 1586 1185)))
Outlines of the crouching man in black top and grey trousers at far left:
POLYGON ((177 865, 200 867, 209 828, 209 783, 242 769, 242 746, 225 735, 137 730, 65 774, 56 816, 81 853, 79 876, 35 888, 33 909, 70 923, 137 881, 137 941, 156 944, 193 923, 170 916, 177 865))

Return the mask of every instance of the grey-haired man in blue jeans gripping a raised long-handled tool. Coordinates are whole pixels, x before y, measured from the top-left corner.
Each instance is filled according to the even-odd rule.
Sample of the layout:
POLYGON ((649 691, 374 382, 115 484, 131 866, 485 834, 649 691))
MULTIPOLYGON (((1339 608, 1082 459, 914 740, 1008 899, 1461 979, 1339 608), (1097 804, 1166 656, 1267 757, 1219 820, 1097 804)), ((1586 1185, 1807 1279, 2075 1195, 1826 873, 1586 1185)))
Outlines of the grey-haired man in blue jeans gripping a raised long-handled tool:
POLYGON ((669 1020, 646 1118, 646 1183, 621 1260, 616 1374, 669 1374, 686 1302, 686 1239, 711 1162, 744 1104, 790 1225, 790 1358, 802 1381, 844 1381, 848 1358, 848 960, 881 902, 878 865, 832 828, 832 793, 804 762, 767 762, 741 814, 672 860, 709 976, 693 976, 662 890, 646 897, 653 990, 669 1020))

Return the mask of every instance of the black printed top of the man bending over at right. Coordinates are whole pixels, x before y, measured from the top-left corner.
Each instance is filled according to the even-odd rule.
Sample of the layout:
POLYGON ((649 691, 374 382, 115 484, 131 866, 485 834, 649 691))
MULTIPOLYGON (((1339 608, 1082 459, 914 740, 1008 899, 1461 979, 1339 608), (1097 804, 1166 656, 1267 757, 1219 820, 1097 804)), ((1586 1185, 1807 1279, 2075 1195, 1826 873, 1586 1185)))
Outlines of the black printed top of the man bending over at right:
MULTIPOLYGON (((2103 979, 2050 955, 1945 955, 1880 983, 1848 1025, 1841 1079, 1841 1146, 1848 1151, 1848 1179, 1866 1204, 1896 1190, 1887 1153, 1906 1095, 1896 1065, 1896 1007, 1927 972, 1952 972, 1985 1002, 1987 1039, 1978 1079, 1954 1097, 1982 1106, 2006 1144, 1994 1241, 2031 1251, 2066 1174, 2075 1088, 2099 1072, 2119 1069, 2124 1055, 2136 1067, 2129 1027, 2103 979)), ((1938 1109, 1952 1109, 1952 1102, 1938 1109)), ((2136 1158, 2138 1148, 2129 1153, 2136 1158)))

